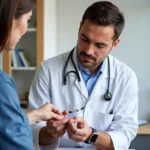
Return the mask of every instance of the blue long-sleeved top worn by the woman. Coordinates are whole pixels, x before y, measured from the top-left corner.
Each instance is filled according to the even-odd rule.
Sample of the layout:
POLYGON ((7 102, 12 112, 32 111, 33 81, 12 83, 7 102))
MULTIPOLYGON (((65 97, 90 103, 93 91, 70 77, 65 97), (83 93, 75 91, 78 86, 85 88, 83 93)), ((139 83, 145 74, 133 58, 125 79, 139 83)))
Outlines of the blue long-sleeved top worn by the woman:
POLYGON ((35 150, 13 80, 0 70, 0 150, 35 150))

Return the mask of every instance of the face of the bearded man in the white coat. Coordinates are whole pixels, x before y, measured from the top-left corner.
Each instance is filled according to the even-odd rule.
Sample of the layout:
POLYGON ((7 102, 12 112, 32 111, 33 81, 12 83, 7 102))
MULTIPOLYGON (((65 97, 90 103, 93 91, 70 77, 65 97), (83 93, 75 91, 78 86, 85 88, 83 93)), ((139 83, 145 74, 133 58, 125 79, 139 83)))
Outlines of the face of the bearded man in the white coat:
POLYGON ((81 23, 77 43, 81 65, 94 73, 109 52, 119 43, 119 39, 113 41, 113 37, 113 26, 100 26, 89 20, 81 23))

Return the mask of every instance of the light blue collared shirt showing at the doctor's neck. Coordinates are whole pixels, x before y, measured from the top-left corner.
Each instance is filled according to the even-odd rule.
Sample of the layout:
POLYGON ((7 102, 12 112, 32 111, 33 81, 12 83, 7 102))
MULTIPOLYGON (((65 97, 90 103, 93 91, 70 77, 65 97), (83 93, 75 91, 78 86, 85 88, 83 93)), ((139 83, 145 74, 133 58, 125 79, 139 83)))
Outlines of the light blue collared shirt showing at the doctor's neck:
POLYGON ((90 96, 97 79, 104 71, 105 61, 103 61, 99 70, 91 75, 88 69, 81 65, 81 63, 79 62, 79 58, 77 60, 78 60, 79 70, 81 72, 81 75, 83 77, 84 83, 88 91, 88 95, 90 96))

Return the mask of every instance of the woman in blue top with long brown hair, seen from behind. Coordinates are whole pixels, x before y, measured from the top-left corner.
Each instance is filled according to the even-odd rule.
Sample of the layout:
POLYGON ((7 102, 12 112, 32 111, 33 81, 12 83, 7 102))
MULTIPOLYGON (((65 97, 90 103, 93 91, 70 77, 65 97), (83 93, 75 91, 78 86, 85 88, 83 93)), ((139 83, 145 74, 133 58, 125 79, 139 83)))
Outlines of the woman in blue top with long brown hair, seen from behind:
MULTIPOLYGON (((12 50, 27 31, 35 0, 0 0, 0 52, 12 50)), ((35 150, 30 124, 63 119, 58 109, 46 103, 28 112, 22 111, 11 77, 0 70, 0 150, 35 150)))

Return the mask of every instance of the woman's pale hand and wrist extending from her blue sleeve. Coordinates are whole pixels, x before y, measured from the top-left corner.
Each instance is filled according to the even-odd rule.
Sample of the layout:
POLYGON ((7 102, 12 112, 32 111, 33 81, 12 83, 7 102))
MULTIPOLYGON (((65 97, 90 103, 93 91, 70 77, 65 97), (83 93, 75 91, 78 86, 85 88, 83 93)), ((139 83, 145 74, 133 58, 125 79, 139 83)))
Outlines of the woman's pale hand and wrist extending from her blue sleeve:
POLYGON ((47 121, 52 118, 61 120, 64 117, 61 112, 59 112, 59 110, 49 102, 38 109, 27 112, 26 114, 30 124, 47 121))

